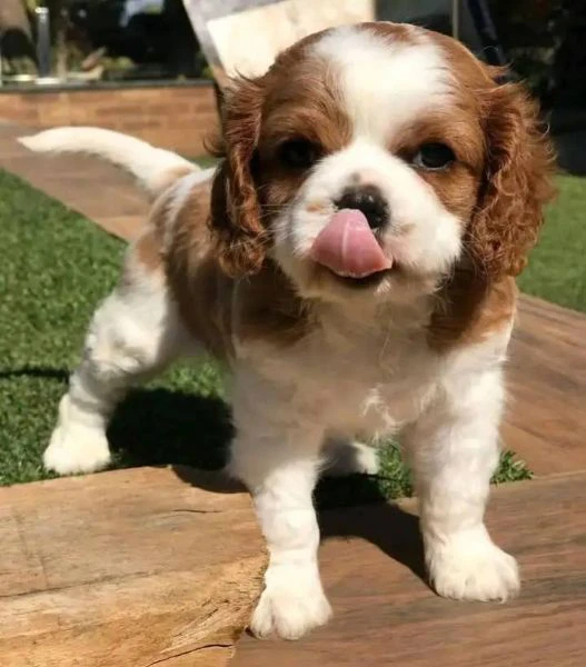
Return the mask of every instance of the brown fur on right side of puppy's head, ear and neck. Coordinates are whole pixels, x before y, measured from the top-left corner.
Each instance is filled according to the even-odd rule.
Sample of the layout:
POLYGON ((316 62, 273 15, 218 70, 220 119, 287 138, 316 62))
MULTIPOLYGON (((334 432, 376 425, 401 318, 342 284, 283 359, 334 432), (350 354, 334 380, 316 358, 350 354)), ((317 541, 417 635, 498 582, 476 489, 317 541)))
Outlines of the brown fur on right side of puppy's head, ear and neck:
POLYGON ((426 180, 467 221, 461 259, 429 326, 429 345, 447 350, 479 342, 511 321, 517 293, 511 277, 525 267, 554 196, 554 153, 522 86, 499 83, 505 70, 485 66, 451 38, 428 36, 457 83, 446 128, 449 123, 460 138, 445 141, 459 163, 426 180))

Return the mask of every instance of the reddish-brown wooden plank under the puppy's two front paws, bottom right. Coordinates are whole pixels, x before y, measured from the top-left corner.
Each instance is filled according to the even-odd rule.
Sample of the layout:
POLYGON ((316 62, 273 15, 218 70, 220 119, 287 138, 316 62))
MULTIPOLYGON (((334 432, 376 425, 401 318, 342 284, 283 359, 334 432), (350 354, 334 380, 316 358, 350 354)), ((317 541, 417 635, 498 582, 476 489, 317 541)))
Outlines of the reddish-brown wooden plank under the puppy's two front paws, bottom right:
POLYGON ((329 625, 297 643, 245 636, 231 667, 579 667, 586 655, 586 472, 505 485, 488 525, 520 564, 505 605, 437 597, 413 501, 327 511, 329 625))

